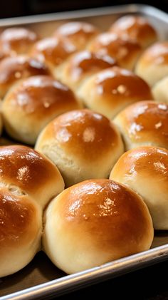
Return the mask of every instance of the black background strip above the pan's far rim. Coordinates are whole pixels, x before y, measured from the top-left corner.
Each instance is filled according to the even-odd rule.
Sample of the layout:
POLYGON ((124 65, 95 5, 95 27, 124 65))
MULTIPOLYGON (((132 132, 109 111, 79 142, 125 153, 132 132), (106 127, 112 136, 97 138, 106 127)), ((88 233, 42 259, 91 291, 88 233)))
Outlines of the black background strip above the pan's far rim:
POLYGON ((149 4, 168 12, 168 0, 2 0, 0 18, 132 3, 149 4))

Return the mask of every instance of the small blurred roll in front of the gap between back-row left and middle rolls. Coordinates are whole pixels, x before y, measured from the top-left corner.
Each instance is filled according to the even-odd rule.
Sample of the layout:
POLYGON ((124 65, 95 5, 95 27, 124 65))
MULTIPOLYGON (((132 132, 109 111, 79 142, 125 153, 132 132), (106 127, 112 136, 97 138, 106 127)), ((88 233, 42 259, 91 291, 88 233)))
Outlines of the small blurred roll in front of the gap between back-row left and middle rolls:
POLYGON ((70 41, 65 38, 43 38, 34 44, 31 50, 31 56, 51 66, 58 66, 75 51, 76 48, 73 43, 70 43, 70 41))

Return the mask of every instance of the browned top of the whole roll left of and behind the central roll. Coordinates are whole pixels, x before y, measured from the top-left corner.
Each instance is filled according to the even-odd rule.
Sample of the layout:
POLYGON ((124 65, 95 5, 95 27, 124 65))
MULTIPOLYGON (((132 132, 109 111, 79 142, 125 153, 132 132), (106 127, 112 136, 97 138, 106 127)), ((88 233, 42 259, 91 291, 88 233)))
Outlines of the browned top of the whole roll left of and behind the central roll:
POLYGON ((25 117, 28 115, 35 123, 80 107, 72 90, 51 76, 25 79, 6 95, 4 101, 10 110, 22 110, 25 117))

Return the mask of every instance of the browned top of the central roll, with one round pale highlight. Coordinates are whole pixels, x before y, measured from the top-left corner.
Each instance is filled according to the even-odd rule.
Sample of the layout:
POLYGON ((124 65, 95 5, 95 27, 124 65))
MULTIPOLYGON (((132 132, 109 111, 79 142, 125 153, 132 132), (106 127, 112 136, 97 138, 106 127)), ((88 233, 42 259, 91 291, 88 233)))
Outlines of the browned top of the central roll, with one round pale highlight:
MULTIPOLYGON (((120 144, 110 120, 91 110, 73 110, 51 121, 42 132, 43 140, 56 139, 61 148, 78 159, 93 162, 120 144)), ((43 142, 42 142, 43 143, 43 142)))

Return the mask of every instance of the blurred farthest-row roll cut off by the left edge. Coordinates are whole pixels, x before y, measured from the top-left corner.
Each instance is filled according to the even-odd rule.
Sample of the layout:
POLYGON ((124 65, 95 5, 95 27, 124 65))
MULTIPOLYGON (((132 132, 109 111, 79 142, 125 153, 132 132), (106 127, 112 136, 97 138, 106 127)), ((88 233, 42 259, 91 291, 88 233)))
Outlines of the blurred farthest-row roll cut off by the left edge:
POLYGON ((18 54, 27 53, 36 41, 37 35, 34 31, 21 27, 5 29, 0 36, 1 48, 18 54))

